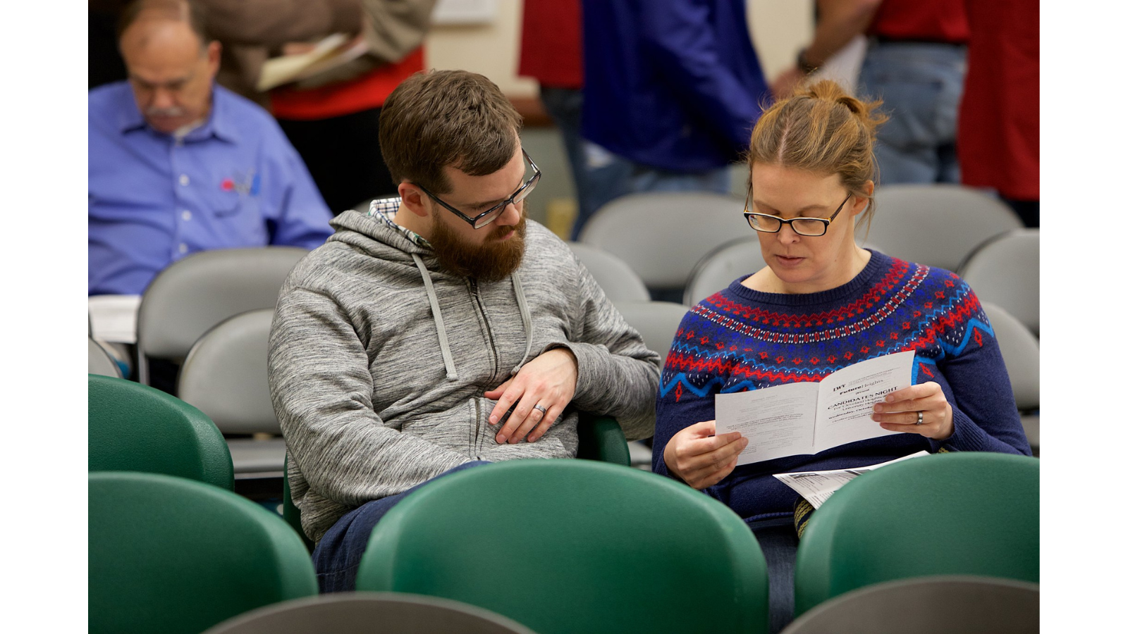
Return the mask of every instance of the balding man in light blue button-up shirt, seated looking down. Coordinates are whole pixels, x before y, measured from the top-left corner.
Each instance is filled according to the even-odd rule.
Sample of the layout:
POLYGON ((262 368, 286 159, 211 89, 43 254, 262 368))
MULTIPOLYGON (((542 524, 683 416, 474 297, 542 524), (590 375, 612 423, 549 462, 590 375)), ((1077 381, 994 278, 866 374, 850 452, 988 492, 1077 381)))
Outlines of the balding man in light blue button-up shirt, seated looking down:
POLYGON ((140 294, 200 250, 323 244, 325 201, 274 120, 214 85, 199 10, 142 0, 121 24, 130 79, 89 93, 88 294, 140 294))

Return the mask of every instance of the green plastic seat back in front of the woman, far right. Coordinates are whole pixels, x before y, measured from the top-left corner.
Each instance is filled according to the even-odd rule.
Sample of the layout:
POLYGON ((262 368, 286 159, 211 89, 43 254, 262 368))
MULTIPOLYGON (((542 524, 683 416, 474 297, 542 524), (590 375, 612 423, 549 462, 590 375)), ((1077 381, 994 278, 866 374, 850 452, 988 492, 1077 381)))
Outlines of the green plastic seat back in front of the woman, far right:
POLYGON ((795 615, 911 576, 1039 581, 1037 458, 968 451, 895 463, 811 516, 795 558, 795 615))

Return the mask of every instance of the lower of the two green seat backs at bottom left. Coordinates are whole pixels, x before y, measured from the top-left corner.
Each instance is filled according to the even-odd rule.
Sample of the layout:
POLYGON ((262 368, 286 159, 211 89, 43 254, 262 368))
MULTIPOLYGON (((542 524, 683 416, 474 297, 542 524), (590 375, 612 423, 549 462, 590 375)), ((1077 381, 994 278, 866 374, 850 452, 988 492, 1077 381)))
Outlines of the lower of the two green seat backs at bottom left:
POLYGON ((222 488, 125 472, 89 476, 89 631, 196 634, 317 593, 301 540, 222 488))

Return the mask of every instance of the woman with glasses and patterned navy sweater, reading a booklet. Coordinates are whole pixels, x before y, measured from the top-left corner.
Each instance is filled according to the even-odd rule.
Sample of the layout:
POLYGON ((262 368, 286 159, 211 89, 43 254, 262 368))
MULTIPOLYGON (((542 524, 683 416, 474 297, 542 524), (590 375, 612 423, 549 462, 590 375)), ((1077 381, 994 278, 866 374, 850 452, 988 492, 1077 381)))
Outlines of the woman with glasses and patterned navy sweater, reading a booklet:
POLYGON ((874 132, 885 118, 878 105, 820 81, 760 116, 744 217, 767 267, 686 315, 659 386, 653 470, 724 502, 756 532, 772 574, 774 631, 790 619, 801 499, 772 474, 874 465, 920 450, 1030 455, 971 289, 949 271, 855 243, 874 213, 874 132), (901 433, 741 466, 749 439, 714 435, 717 394, 818 381, 901 351, 916 352, 913 385, 872 415, 874 426, 901 433))

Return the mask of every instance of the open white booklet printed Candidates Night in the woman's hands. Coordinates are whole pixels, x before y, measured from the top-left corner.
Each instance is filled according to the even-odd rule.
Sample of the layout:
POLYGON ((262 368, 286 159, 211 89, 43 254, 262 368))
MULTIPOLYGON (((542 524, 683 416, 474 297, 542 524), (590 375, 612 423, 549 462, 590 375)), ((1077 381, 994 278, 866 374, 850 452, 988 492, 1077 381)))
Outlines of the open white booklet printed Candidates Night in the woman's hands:
POLYGON ((818 454, 899 432, 870 416, 887 394, 913 385, 911 350, 867 359, 819 382, 796 382, 716 395, 716 433, 748 439, 738 465, 818 454))

